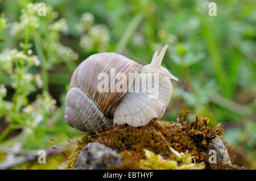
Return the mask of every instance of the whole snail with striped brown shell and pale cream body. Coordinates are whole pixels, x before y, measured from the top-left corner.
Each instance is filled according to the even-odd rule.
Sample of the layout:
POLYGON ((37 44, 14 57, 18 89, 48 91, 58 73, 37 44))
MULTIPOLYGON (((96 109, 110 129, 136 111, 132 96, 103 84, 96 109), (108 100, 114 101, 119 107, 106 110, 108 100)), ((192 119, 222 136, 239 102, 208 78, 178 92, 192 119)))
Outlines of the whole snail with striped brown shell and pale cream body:
POLYGON ((71 78, 65 97, 65 122, 79 131, 94 133, 113 124, 139 127, 160 119, 171 100, 170 79, 178 81, 161 66, 167 48, 165 45, 160 53, 156 51, 146 66, 117 53, 97 53, 86 58, 71 78), (103 77, 99 76, 101 73, 103 77), (127 78, 130 75, 133 76, 127 78), (99 91, 102 81, 106 86, 99 91), (146 92, 141 91, 144 86, 146 92), (157 96, 152 98, 154 93, 157 96))

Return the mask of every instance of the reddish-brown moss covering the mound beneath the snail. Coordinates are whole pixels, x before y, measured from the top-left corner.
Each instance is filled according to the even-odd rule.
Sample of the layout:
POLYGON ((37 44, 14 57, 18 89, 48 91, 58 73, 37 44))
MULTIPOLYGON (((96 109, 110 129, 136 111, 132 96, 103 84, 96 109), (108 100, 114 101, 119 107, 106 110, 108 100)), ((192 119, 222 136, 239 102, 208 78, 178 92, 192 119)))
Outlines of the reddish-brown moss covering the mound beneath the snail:
POLYGON ((138 128, 127 124, 113 125, 93 137, 85 133, 69 160, 68 169, 73 168, 82 148, 91 141, 109 146, 122 155, 122 165, 112 166, 109 169, 142 169, 139 161, 146 159, 144 149, 155 155, 159 154, 163 159, 175 160, 176 155, 172 153, 170 147, 179 153, 191 155, 192 163, 205 162, 205 169, 234 169, 221 163, 216 163, 216 166, 209 164, 207 143, 216 136, 221 137, 224 130, 210 128, 208 122, 207 117, 203 116, 196 117, 196 120, 189 124, 183 119, 178 122, 157 120, 138 128))

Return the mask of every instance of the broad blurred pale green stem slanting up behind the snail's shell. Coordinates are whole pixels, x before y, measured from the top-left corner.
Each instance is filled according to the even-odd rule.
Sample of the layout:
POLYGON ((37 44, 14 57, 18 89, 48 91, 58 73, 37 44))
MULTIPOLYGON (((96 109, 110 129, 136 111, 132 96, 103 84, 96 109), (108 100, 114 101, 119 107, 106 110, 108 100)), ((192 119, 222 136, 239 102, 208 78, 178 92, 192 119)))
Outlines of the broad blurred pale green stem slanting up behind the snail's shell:
POLYGON ((123 49, 125 49, 131 35, 133 35, 134 31, 137 29, 139 24, 143 19, 142 14, 137 13, 131 22, 129 23, 128 27, 126 28, 125 32, 123 33, 121 39, 117 43, 117 47, 115 48, 115 52, 122 53, 123 49))

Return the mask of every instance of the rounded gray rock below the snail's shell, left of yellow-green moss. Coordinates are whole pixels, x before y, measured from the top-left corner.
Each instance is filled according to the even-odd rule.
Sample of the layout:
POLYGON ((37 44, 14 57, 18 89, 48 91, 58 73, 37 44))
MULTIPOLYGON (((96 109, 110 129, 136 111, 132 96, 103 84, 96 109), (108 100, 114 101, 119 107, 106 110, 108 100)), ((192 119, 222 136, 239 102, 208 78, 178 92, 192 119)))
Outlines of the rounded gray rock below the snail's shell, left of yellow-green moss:
POLYGON ((115 150, 99 144, 89 142, 77 157, 74 169, 76 170, 104 170, 112 165, 122 163, 122 157, 115 150))

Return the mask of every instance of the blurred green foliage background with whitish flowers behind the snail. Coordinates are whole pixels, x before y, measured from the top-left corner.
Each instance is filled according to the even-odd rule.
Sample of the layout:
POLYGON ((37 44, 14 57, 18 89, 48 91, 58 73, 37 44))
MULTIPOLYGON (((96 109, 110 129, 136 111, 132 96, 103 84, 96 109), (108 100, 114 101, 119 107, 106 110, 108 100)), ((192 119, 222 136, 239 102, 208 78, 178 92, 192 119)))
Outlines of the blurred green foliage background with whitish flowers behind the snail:
POLYGON ((0 1, 0 152, 82 134, 63 112, 86 57, 116 52, 146 65, 168 44, 163 66, 180 81, 165 119, 192 110, 188 121, 204 115, 211 127, 221 123, 232 162, 256 169, 256 2, 214 2, 217 16, 209 16, 207 0, 0 1))

